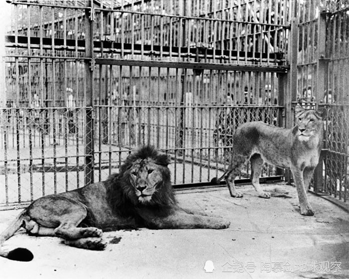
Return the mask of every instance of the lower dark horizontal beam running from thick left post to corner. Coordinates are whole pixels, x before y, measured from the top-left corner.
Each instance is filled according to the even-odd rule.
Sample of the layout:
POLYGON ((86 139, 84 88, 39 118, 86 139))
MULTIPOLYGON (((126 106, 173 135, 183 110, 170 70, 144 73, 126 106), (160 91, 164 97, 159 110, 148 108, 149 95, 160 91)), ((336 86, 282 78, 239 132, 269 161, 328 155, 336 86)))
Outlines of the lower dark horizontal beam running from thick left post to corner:
POLYGON ((101 65, 123 65, 123 66, 142 66, 142 67, 161 67, 161 68, 181 68, 195 70, 223 70, 223 71, 254 71, 254 72, 273 72, 284 73, 287 67, 281 66, 255 66, 238 64, 214 64, 202 62, 170 62, 170 61, 144 61, 144 60, 122 60, 111 58, 96 58, 96 64, 101 65))

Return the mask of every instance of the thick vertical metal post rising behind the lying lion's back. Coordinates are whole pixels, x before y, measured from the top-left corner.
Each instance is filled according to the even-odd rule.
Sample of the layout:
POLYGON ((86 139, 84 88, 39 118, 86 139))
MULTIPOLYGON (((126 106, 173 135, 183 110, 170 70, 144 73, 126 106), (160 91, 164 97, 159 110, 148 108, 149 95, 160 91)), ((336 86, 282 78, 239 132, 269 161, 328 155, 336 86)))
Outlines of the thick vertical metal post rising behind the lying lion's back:
POLYGON ((85 185, 94 182, 94 133, 93 133, 93 96, 94 96, 94 68, 93 55, 93 21, 95 12, 93 0, 85 10, 85 75, 86 75, 86 141, 85 141, 85 185))

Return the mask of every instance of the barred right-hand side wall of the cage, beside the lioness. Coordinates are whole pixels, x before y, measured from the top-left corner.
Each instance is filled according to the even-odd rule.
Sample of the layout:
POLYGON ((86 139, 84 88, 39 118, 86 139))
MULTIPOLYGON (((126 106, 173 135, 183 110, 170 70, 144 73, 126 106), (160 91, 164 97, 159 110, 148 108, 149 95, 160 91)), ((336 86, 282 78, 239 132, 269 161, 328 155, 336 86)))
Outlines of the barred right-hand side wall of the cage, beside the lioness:
POLYGON ((325 107, 322 185, 314 190, 343 201, 349 191, 349 2, 304 1, 299 13, 297 99, 325 107))

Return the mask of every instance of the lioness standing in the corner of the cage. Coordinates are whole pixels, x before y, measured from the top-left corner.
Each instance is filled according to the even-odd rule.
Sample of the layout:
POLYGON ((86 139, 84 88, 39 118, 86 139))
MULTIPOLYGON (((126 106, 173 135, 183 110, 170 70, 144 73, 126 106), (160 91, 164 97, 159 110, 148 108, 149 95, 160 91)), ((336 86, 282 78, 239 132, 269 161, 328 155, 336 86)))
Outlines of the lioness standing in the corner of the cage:
POLYGON ((230 195, 242 197, 235 189, 234 179, 249 158, 254 188, 260 197, 270 198, 270 194, 264 192, 259 184, 263 163, 289 168, 297 187, 301 214, 314 215, 306 189, 319 162, 324 133, 322 118, 325 110, 307 111, 297 105, 295 111, 296 126, 293 129, 274 127, 263 122, 245 123, 236 129, 231 163, 225 173, 213 181, 219 182, 224 177, 230 195))

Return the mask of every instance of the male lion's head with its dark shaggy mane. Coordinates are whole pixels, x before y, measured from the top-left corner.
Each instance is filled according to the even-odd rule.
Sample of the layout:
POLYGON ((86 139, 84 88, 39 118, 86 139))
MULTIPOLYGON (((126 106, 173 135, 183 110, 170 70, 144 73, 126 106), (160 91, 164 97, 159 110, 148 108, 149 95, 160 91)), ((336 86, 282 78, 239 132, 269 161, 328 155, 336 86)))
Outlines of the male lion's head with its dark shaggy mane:
POLYGON ((144 146, 131 153, 121 166, 129 198, 141 204, 175 203, 169 163, 170 158, 153 146, 144 146))

